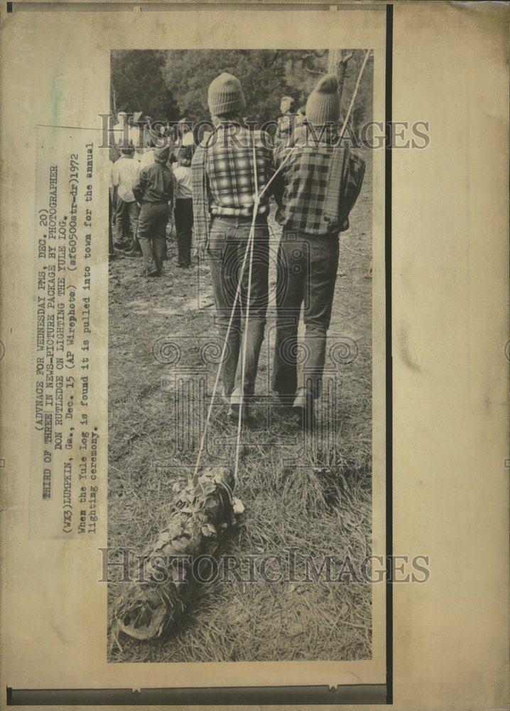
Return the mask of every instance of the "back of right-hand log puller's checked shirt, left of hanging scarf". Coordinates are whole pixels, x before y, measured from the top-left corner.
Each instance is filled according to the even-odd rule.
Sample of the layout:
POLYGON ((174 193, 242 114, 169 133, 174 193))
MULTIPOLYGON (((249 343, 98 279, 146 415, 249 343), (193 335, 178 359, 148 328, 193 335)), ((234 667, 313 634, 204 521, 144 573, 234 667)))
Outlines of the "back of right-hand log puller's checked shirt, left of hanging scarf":
POLYGON ((308 145, 299 139, 295 146, 281 145, 276 149, 276 169, 285 161, 274 180, 276 220, 286 230, 308 235, 339 231, 338 227, 330 227, 325 218, 330 161, 337 140, 335 134, 320 139, 309 135, 308 145))

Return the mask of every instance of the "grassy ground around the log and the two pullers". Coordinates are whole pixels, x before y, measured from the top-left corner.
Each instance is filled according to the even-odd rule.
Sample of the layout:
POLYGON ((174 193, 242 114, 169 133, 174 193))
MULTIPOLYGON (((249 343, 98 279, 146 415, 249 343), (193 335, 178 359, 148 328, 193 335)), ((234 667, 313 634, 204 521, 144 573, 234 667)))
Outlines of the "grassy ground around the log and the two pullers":
MULTIPOLYGON (((322 432, 303 436, 271 399, 270 309, 256 422, 243 435, 236 495, 246 510, 227 547, 232 555, 277 555, 293 547, 296 555, 318 562, 327 555, 349 556, 356 568, 371 552, 371 156, 364 158, 367 173, 352 226, 340 236, 328 338, 337 350, 327 371, 335 373, 337 385, 331 397, 324 397, 322 432), (346 343, 353 342, 346 356, 346 343)), ((273 220, 271 227, 276 248, 273 220)), ((173 483, 184 481, 195 462, 200 420, 188 405, 188 387, 203 367, 204 346, 215 341, 214 307, 207 267, 178 269, 175 251, 171 242, 161 279, 140 277, 141 262, 134 257, 121 256, 109 267, 112 548, 142 552, 151 543, 172 510, 173 483), (168 350, 168 343, 180 347, 177 365, 170 362, 175 348, 168 350)), ((274 276, 271 272, 272 282, 274 276)), ((207 371, 208 390, 215 367, 207 371)), ((226 415, 227 406, 218 403, 207 464, 232 461, 235 426, 226 415)), ((120 585, 109 585, 110 602, 120 585)), ((166 642, 121 636, 109 651, 112 662, 370 657, 371 587, 348 581, 203 585, 180 629, 166 642)))

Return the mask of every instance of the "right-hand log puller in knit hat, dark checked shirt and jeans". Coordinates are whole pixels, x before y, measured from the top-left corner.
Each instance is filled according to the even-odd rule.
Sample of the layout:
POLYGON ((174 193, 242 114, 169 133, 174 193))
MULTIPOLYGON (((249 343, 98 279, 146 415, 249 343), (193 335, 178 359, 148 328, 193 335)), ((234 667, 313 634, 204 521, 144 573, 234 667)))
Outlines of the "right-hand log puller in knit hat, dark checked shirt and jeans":
POLYGON ((308 139, 280 146, 274 195, 276 220, 283 225, 278 247, 276 343, 273 390, 283 405, 293 405, 306 429, 315 426, 314 402, 320 395, 337 278, 338 235, 349 227, 362 186, 364 161, 338 141, 337 79, 326 75, 306 103, 308 139), (304 301, 305 362, 298 382, 297 346, 304 301))

